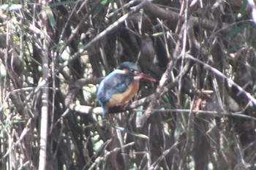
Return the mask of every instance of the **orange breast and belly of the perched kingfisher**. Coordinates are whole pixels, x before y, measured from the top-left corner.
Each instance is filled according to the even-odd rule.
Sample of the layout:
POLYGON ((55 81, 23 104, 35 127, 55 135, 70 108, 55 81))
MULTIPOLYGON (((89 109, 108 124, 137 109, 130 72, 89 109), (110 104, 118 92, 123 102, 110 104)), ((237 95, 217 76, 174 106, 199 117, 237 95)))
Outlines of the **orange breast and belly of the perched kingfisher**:
POLYGON ((108 107, 114 107, 118 104, 124 104, 126 101, 132 99, 138 93, 139 86, 139 80, 135 80, 134 82, 132 82, 132 84, 128 86, 127 90, 124 91, 124 93, 114 94, 108 102, 108 107))

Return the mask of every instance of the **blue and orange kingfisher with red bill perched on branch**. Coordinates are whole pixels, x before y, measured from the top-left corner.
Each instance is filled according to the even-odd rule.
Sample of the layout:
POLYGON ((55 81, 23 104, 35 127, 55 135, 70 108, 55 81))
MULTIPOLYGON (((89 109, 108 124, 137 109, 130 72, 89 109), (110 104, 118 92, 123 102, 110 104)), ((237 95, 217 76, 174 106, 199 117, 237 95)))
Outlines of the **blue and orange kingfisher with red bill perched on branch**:
POLYGON ((121 63, 117 69, 108 74, 99 84, 97 98, 102 106, 103 112, 108 113, 110 107, 115 107, 132 99, 139 90, 140 79, 157 82, 153 77, 143 74, 135 63, 121 63))

